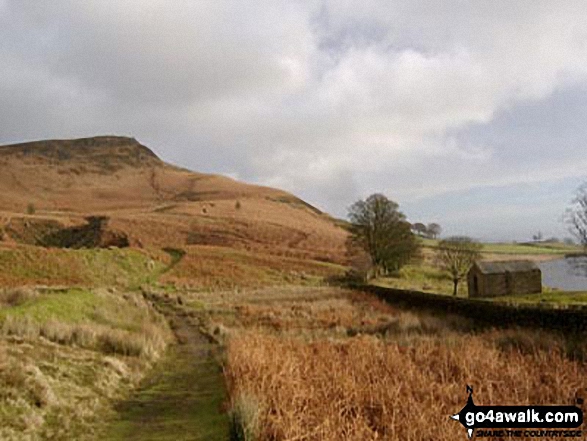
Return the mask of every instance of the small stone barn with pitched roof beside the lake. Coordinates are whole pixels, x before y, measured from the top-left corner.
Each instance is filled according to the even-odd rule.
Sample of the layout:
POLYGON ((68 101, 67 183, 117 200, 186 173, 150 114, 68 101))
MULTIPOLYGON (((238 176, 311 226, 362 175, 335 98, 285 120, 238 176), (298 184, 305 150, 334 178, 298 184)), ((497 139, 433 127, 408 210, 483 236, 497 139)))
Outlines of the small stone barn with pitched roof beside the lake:
POLYGON ((528 260, 475 262, 467 275, 469 297, 542 292, 542 272, 528 260))

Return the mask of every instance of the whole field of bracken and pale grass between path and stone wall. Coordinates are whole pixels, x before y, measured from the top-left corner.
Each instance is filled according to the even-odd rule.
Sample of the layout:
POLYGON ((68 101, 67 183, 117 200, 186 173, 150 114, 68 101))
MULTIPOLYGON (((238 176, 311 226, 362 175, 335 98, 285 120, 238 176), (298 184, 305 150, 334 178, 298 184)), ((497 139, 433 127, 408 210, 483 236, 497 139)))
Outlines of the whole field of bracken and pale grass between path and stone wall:
POLYGON ((478 405, 572 404, 587 378, 587 347, 569 336, 479 329, 356 291, 182 295, 227 345, 241 439, 454 440, 467 384, 478 405))

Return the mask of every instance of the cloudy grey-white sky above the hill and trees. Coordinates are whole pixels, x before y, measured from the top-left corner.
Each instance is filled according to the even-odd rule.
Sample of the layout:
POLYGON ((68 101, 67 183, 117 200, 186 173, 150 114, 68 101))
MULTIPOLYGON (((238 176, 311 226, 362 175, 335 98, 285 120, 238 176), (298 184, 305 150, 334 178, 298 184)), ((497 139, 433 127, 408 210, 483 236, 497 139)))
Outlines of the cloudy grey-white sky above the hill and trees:
POLYGON ((583 0, 0 0, 0 144, 122 135, 334 216, 569 236, 583 0))

